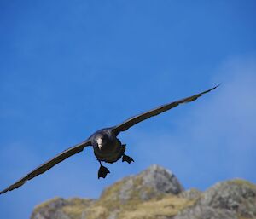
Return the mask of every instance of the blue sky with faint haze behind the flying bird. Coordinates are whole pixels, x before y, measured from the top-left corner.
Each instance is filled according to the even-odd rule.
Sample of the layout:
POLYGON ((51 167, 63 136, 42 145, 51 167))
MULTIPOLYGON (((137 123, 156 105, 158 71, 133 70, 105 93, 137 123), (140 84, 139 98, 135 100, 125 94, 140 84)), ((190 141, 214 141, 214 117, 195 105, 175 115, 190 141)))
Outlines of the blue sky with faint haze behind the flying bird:
POLYGON ((0 2, 0 186, 102 127, 222 83, 120 135, 134 164, 91 148, 0 197, 28 218, 55 196, 96 198, 150 164, 184 187, 256 182, 255 1, 0 2))

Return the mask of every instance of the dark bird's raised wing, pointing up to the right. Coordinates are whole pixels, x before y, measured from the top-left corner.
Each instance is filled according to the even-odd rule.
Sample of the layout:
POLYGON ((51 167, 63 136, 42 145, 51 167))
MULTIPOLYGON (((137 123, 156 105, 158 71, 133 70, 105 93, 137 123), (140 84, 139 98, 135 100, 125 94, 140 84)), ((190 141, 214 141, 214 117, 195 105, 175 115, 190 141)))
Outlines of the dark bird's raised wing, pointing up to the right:
MULTIPOLYGON (((219 86, 219 84, 216 87, 212 88, 212 89, 216 89, 218 86, 219 86)), ((115 135, 119 135, 119 132, 128 130, 131 126, 133 126, 135 124, 138 124, 138 123, 142 122, 143 120, 145 120, 147 118, 154 117, 154 116, 160 114, 161 112, 165 112, 169 109, 172 109, 173 107, 177 107, 179 104, 195 101, 198 97, 210 92, 212 89, 208 89, 208 90, 206 90, 204 92, 201 92, 200 94, 197 94, 197 95, 192 95, 192 96, 189 96, 187 98, 183 98, 182 100, 179 100, 179 101, 174 101, 174 102, 171 102, 171 103, 167 103, 167 104, 162 105, 160 107, 156 107, 152 110, 149 110, 148 112, 143 112, 142 114, 139 114, 135 117, 128 118, 122 124, 118 124, 118 125, 114 126, 113 127, 113 133, 115 135)))

